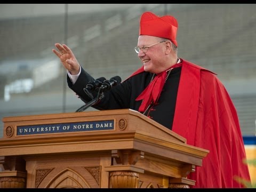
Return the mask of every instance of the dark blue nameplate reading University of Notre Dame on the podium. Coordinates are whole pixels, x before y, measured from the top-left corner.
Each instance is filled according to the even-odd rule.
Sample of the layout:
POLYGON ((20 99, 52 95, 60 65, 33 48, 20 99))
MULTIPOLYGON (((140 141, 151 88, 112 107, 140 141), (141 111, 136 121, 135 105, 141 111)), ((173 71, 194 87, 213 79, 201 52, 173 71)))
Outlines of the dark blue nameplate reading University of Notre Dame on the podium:
POLYGON ((114 120, 17 126, 17 135, 114 130, 114 120))

